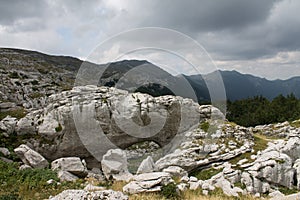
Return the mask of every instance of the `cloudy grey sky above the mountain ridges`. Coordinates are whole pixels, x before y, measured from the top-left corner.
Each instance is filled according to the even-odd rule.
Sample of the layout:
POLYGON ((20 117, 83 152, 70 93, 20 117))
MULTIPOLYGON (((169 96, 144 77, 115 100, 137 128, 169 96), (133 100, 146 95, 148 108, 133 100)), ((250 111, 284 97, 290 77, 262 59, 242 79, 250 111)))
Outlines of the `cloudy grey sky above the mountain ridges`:
POLYGON ((113 61, 126 45, 125 49, 132 51, 119 59, 147 59, 172 68, 175 74, 196 73, 189 62, 203 67, 211 59, 213 64, 200 69, 201 73, 237 70, 267 79, 287 79, 300 76, 299 10, 298 0, 1 1, 0 47, 89 60, 101 49, 99 45, 110 41, 92 61, 113 61), (161 32, 175 35, 168 37, 143 27, 165 28, 161 32), (124 31, 131 35, 120 42, 124 31), (185 36, 179 39, 176 33, 185 36), (187 45, 192 39, 208 55, 198 62, 197 52, 187 45), (174 51, 138 49, 141 44, 174 51))

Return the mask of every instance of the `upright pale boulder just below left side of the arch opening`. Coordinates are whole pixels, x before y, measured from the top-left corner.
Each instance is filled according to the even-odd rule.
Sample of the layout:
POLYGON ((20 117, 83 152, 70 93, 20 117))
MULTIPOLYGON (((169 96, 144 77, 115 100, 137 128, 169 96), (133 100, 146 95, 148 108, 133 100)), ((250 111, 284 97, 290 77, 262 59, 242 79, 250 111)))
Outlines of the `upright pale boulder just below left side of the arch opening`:
POLYGON ((110 149, 101 161, 102 171, 106 179, 129 181, 132 174, 127 167, 126 153, 121 149, 110 149))

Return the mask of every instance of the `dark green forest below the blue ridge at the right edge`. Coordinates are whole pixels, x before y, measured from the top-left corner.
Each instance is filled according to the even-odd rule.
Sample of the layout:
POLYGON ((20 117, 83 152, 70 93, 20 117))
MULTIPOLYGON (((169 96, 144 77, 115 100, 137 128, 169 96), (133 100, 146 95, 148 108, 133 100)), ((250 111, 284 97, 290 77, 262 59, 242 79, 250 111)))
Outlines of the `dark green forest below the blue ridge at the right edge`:
POLYGON ((294 94, 279 95, 273 100, 255 96, 228 101, 226 117, 242 126, 256 126, 300 119, 300 99, 294 94))

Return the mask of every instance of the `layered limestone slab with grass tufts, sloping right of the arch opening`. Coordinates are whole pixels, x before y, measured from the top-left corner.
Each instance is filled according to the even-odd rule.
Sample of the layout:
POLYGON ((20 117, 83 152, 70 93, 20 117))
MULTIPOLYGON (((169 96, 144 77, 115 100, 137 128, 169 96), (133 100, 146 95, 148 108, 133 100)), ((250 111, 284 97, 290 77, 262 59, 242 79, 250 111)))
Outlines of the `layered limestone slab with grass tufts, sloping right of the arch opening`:
POLYGON ((207 131, 196 128, 187 132, 185 138, 179 148, 156 161, 156 170, 179 166, 192 172, 250 152, 254 144, 252 133, 248 129, 229 124, 214 124, 214 121, 207 131))

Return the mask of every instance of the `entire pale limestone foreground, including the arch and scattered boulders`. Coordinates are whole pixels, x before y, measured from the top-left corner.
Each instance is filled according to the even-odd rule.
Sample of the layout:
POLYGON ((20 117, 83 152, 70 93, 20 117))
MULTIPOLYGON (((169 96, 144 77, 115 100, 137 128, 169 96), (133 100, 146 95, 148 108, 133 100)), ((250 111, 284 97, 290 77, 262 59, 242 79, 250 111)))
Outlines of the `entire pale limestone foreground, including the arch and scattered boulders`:
MULTIPOLYGON (((96 86, 79 86, 53 94, 48 97, 47 106, 28 112, 21 119, 4 118, 0 122, 1 137, 9 139, 16 134, 19 143, 26 144, 14 150, 24 163, 21 169, 47 168, 49 162, 61 181, 87 176, 124 180, 128 184, 123 192, 129 195, 159 192, 172 183, 179 191, 201 190, 203 195, 216 188, 229 196, 278 196, 281 194, 277 191, 282 188, 300 189, 298 121, 245 128, 224 121, 218 109, 199 106, 189 99, 151 97, 96 86), (178 120, 180 117, 188 120, 183 123, 178 120), (155 135, 137 137, 135 134, 146 131, 137 127, 147 127, 149 118, 155 125, 163 121, 163 126, 155 135), (115 146, 89 148, 97 136, 93 133, 100 133, 89 123, 92 119, 115 146), (86 133, 84 138, 79 135, 82 133, 86 133), (84 141, 85 138, 92 140, 84 141), (143 142, 148 145, 143 146, 143 142), (135 168, 128 168, 132 163, 135 168)), ((8 161, 5 155, 13 152, 5 146, 1 151, 2 159, 8 161)), ((73 192, 81 191, 61 195, 74 195, 73 192)))

